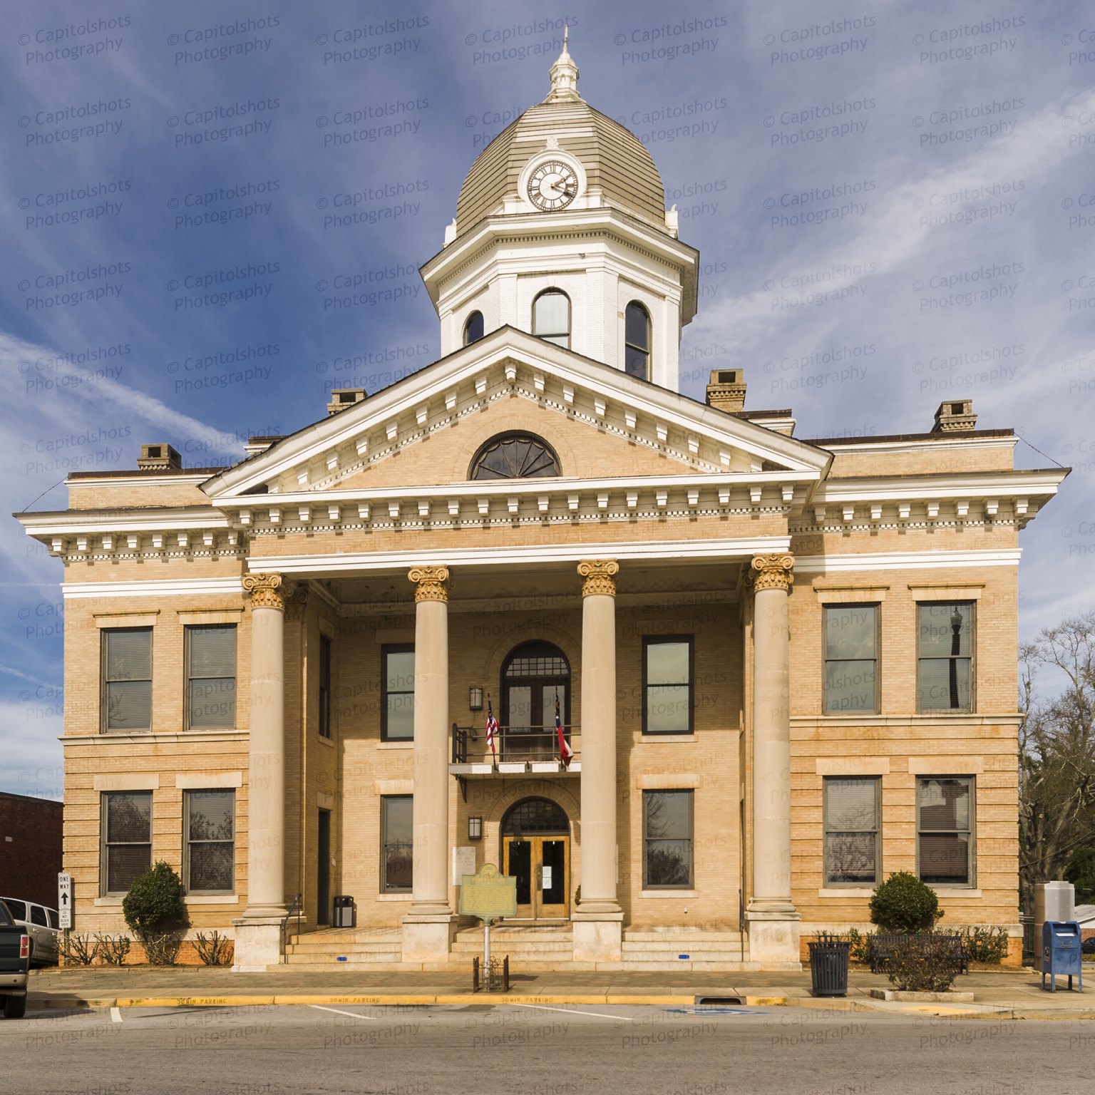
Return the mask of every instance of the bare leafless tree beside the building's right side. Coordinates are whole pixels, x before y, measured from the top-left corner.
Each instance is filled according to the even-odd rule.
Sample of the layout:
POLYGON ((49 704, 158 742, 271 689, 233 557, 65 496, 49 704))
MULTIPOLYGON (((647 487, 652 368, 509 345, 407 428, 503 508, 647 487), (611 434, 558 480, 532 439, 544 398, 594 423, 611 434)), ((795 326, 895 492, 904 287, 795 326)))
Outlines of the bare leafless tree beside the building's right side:
POLYGON ((1095 840, 1095 612, 1044 629, 1019 666, 1019 880, 1030 913, 1035 884, 1062 877, 1095 840), (1048 700, 1035 689, 1042 668, 1065 682, 1048 700))

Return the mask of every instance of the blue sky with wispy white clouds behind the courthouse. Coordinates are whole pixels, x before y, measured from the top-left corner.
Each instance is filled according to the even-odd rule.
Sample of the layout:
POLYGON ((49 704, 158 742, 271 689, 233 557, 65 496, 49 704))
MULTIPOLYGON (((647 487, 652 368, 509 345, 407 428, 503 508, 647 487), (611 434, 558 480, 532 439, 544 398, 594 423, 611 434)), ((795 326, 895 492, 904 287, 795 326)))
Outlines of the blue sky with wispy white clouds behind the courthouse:
MULTIPOLYGON (((566 20, 579 91, 701 251, 681 391, 744 367, 804 438, 972 399, 1017 466, 1075 468, 1021 538, 1023 633, 1095 603, 1090 5, 0 10, 3 511, 141 442, 231 462, 433 360, 417 267, 566 20), (376 302, 335 307, 336 278, 376 302)), ((0 553, 0 788, 59 797, 62 567, 10 519, 0 553)))

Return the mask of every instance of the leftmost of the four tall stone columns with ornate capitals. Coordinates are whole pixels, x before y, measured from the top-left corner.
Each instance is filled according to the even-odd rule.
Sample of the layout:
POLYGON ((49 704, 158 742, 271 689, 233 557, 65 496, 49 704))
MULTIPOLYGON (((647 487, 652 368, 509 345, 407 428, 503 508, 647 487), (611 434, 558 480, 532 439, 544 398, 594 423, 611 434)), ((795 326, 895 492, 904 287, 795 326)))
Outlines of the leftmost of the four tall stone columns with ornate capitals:
POLYGON ((251 731, 247 773, 247 907, 237 925, 239 969, 280 961, 285 917, 285 598, 279 574, 250 574, 251 731))

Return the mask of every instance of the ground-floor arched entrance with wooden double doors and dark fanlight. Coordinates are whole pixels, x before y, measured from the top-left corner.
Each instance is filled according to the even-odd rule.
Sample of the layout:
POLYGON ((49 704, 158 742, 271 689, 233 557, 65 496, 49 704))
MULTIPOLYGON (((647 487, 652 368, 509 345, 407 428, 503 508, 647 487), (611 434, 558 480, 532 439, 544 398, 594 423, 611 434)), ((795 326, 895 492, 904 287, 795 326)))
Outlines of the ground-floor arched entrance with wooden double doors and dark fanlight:
POLYGON ((570 822, 550 798, 522 798, 502 819, 503 874, 517 878, 518 920, 569 912, 570 822))

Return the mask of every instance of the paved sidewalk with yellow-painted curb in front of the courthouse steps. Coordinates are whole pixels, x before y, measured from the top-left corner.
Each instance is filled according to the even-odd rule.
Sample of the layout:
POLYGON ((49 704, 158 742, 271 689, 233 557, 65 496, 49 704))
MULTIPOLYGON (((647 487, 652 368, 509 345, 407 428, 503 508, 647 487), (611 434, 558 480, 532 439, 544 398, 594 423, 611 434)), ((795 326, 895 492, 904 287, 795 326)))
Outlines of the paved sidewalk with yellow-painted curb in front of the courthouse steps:
MULTIPOLYGON (((233 973, 224 967, 68 967, 32 973, 28 1008, 240 1006, 256 1004, 662 1004, 692 1005, 703 998, 741 1004, 823 1007, 831 1010, 919 1012, 924 1014, 998 1014, 1028 1018, 1090 1014, 1095 1017, 1095 969, 1077 992, 1042 992, 1041 976, 1029 971, 972 972, 955 981, 955 990, 972 992, 973 1003, 908 1003, 874 1000, 872 989, 890 989, 885 975, 849 973, 845 998, 810 995, 810 973, 687 972, 546 972, 512 973, 510 991, 472 995, 471 969, 441 973, 371 973, 353 969, 295 972, 292 967, 266 973, 233 973)), ((1060 987, 1061 979, 1058 979, 1060 987)), ((1063 981, 1068 984, 1068 981, 1063 981)))

